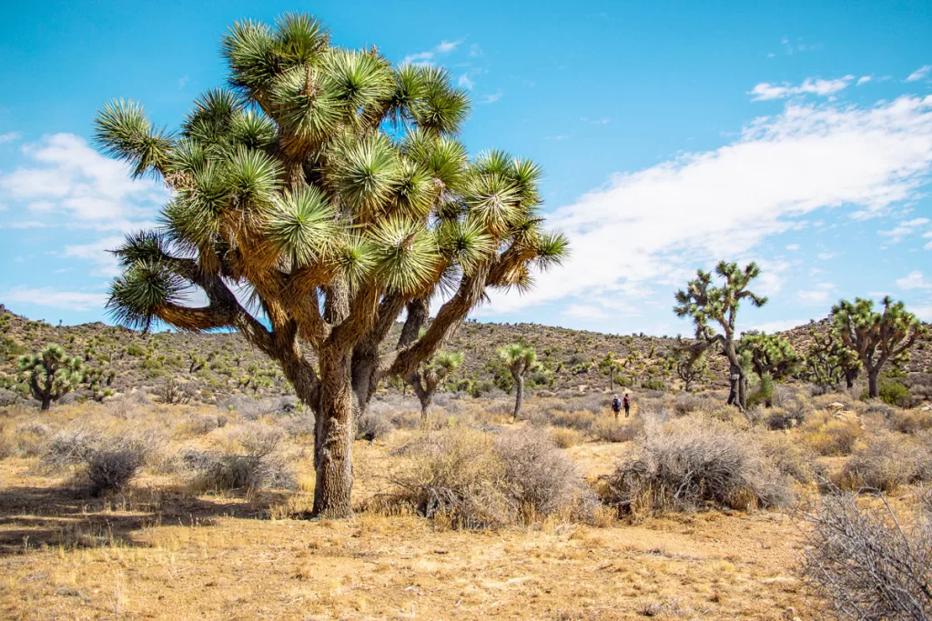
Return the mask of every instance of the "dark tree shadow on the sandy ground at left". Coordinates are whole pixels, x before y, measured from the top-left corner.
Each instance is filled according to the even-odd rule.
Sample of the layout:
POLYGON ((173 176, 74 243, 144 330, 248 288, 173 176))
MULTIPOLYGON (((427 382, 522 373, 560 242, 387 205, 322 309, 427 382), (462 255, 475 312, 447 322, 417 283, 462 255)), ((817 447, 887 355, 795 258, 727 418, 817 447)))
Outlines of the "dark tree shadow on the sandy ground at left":
POLYGON ((146 547, 132 533, 162 524, 211 526, 217 518, 264 520, 288 496, 204 498, 180 488, 134 488, 95 498, 80 486, 7 487, 0 490, 0 557, 42 547, 146 547))

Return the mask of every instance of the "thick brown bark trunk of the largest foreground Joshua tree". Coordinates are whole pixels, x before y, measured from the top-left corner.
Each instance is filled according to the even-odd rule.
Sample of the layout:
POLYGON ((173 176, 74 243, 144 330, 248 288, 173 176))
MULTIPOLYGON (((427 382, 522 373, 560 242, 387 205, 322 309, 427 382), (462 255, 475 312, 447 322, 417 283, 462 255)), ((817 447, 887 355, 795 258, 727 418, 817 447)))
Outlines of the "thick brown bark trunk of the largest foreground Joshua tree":
POLYGON ((320 405, 314 439, 315 516, 349 518, 352 490, 352 441, 355 436, 355 396, 350 382, 349 353, 321 358, 320 405))

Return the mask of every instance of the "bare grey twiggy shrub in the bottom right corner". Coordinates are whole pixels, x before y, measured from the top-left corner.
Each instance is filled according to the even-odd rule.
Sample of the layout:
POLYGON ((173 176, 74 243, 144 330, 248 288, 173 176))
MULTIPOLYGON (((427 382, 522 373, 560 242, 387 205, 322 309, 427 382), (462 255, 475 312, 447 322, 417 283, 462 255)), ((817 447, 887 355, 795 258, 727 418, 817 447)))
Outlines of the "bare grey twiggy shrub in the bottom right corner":
POLYGON ((854 494, 823 497, 806 516, 802 572, 832 612, 842 618, 932 618, 932 497, 925 494, 911 519, 884 499, 859 506, 854 494))

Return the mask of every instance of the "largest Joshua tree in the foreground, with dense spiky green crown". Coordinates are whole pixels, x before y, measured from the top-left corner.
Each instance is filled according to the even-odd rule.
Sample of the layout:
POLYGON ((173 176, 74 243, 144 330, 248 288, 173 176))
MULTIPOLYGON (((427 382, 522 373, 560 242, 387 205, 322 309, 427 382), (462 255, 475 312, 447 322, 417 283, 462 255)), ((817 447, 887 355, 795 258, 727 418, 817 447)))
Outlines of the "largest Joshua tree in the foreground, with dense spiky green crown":
POLYGON ((470 102, 445 71, 333 46, 297 14, 237 22, 222 49, 228 88, 178 131, 134 102, 96 119, 103 150, 172 195, 158 229, 115 251, 108 305, 136 327, 240 331, 278 362, 317 418, 314 514, 346 517, 355 420, 379 380, 409 376, 489 288, 527 288, 567 241, 541 230, 536 164, 469 159, 455 137, 470 102), (194 288, 207 304, 185 304, 194 288))

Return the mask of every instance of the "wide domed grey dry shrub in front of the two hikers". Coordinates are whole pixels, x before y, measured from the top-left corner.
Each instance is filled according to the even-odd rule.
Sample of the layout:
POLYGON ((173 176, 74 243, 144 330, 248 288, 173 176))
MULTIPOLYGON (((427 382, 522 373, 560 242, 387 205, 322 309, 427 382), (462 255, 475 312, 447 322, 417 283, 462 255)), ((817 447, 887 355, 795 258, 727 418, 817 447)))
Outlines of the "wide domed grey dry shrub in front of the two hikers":
POLYGON ((788 479, 750 435, 692 417, 647 425, 607 483, 607 500, 635 519, 710 505, 783 506, 791 498, 788 479))

